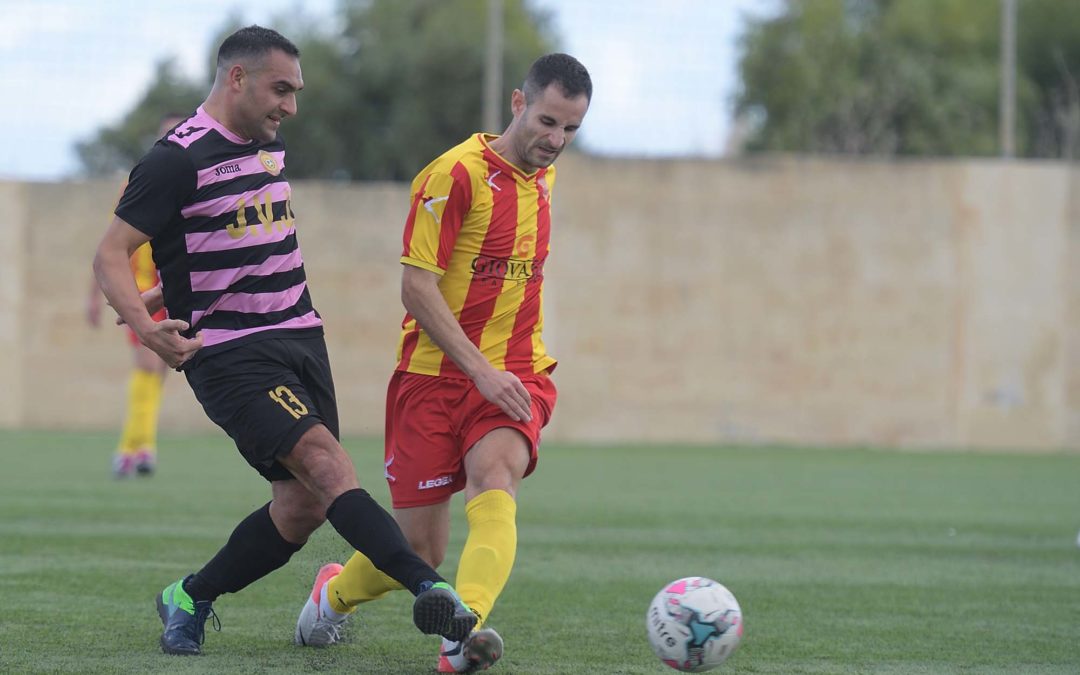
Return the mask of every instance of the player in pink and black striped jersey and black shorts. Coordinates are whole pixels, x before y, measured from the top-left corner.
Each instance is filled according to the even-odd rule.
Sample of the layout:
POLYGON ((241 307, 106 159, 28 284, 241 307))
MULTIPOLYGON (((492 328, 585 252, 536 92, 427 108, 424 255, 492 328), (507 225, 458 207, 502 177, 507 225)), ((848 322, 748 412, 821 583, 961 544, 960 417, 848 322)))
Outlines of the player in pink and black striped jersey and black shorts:
POLYGON ((424 633, 461 639, 476 621, 361 489, 339 443, 278 135, 302 87, 299 51, 286 38, 259 26, 229 36, 206 100, 132 170, 94 258, 109 303, 187 376, 206 415, 271 486, 272 500, 213 559, 158 596, 167 653, 200 653, 212 603, 284 565, 325 521, 413 591, 424 633), (161 285, 140 296, 127 260, 147 241, 161 285), (154 322, 161 305, 168 318, 154 322))

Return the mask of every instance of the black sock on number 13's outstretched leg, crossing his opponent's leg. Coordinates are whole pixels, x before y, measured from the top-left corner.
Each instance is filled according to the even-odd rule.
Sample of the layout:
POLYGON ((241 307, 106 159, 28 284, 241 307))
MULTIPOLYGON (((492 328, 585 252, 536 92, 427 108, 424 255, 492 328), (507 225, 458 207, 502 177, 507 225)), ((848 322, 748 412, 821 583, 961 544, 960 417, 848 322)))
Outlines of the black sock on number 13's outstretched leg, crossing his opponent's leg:
POLYGON ((353 549, 413 595, 430 585, 426 582, 445 581, 413 551, 394 518, 366 490, 357 487, 339 495, 326 510, 326 519, 353 549))

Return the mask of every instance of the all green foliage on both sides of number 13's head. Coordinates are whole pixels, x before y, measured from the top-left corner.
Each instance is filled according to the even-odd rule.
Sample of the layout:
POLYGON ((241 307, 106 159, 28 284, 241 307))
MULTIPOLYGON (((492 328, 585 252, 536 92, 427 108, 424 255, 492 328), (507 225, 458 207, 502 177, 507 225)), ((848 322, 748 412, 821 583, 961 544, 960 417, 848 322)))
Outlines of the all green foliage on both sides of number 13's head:
MULTIPOLYGON (((552 51, 550 17, 526 0, 503 5, 503 118, 529 65, 552 51)), ((230 17, 217 45, 243 22, 230 17)), ((270 25, 300 49, 298 114, 282 125, 292 178, 410 180, 481 130, 486 0, 342 0, 330 21, 270 25), (333 26, 328 28, 328 26, 333 26)), ((114 126, 78 147, 87 173, 126 171, 146 151, 164 109, 194 110, 210 84, 159 66, 153 84, 114 126), (149 130, 149 131, 148 131, 149 130)))

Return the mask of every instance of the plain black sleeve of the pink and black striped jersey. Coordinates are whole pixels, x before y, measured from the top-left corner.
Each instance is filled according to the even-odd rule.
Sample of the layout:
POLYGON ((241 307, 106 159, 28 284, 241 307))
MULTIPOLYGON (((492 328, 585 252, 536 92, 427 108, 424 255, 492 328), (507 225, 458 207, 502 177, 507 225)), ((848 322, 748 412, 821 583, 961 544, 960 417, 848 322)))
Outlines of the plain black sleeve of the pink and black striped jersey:
POLYGON ((177 219, 194 189, 195 170, 188 153, 159 143, 132 170, 116 214, 153 239, 177 219))

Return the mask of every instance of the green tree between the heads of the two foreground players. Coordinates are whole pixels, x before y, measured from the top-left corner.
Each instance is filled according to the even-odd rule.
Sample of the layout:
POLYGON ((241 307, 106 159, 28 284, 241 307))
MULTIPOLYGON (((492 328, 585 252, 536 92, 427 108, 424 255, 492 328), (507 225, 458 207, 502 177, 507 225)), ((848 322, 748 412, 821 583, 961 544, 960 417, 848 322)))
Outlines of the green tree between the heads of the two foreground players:
MULTIPOLYGON (((486 0, 343 3, 341 35, 301 45, 308 117, 298 116, 287 132, 297 141, 293 166, 312 177, 407 180, 480 131, 486 6, 486 0)), ((548 17, 523 0, 505 1, 504 21, 509 107, 510 92, 554 40, 548 17)))

